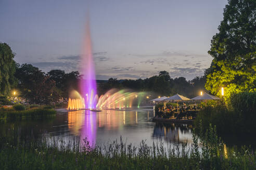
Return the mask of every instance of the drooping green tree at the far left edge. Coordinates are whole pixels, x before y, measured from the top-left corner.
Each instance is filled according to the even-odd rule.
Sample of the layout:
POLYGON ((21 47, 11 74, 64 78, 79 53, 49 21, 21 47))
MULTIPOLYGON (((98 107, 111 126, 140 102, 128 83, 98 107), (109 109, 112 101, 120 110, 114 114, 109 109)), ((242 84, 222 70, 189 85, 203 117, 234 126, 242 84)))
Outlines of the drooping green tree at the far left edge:
POLYGON ((6 43, 0 43, 0 93, 7 95, 16 82, 14 52, 6 43))

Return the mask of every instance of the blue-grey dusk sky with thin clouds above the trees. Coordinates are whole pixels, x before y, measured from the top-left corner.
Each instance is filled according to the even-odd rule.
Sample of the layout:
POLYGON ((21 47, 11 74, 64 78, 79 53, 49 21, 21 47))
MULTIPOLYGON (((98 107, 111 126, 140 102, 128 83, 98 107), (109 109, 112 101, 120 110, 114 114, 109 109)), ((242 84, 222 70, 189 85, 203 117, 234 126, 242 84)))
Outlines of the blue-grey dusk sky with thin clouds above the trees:
POLYGON ((137 79, 167 70, 193 79, 211 64, 207 53, 223 19, 224 0, 0 1, 0 41, 15 61, 44 72, 79 70, 90 19, 96 78, 137 79))

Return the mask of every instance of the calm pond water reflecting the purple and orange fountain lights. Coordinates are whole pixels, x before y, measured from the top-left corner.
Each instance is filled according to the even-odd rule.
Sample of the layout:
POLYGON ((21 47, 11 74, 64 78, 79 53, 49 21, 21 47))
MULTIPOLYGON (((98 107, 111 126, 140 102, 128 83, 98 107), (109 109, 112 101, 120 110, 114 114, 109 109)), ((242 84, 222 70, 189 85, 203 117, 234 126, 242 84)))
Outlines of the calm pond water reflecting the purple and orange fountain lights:
MULTIPOLYGON (((139 145, 146 140, 148 145, 160 138, 164 143, 191 143, 191 125, 162 124, 152 122, 152 106, 142 106, 126 110, 88 110, 67 111, 57 109, 52 120, 19 121, 0 124, 2 131, 11 127, 21 127, 23 135, 56 136, 68 140, 73 136, 87 138, 91 143, 107 143, 115 139, 127 141, 127 144, 139 145)), ((5 131, 6 132, 6 131, 5 131)))

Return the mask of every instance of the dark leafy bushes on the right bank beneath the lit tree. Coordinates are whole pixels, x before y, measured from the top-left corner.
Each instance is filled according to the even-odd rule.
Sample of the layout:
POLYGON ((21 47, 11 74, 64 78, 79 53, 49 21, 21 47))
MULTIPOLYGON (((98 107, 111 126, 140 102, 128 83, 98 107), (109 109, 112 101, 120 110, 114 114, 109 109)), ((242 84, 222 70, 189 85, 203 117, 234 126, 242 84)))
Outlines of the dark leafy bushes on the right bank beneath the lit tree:
POLYGON ((204 129, 211 123, 221 134, 256 134, 256 92, 233 94, 229 101, 228 104, 207 105, 199 111, 196 128, 202 121, 204 129))

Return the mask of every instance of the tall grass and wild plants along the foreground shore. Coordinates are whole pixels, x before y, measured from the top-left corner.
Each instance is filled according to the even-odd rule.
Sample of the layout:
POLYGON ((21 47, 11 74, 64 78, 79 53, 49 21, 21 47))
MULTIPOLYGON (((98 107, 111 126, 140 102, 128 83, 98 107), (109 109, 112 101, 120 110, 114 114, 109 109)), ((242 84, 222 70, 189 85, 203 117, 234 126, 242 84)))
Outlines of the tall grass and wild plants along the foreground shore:
MULTIPOLYGON (((12 132, 10 132, 12 133, 12 132)), ((193 144, 168 145, 160 140, 152 146, 126 144, 122 138, 103 145, 72 138, 66 143, 56 138, 0 138, 1 169, 255 169, 256 154, 243 147, 226 150, 209 127, 201 131, 201 140, 193 133, 193 144), (200 146, 200 148, 199 148, 200 146)))

